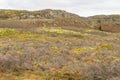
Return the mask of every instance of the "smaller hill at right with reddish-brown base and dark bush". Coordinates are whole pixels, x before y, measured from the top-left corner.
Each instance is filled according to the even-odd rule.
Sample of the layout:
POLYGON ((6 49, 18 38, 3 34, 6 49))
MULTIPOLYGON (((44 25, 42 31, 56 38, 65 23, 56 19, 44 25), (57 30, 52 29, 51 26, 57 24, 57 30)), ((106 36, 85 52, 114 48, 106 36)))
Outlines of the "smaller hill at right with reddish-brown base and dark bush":
POLYGON ((97 15, 87 19, 92 28, 108 32, 120 32, 120 15, 97 15))

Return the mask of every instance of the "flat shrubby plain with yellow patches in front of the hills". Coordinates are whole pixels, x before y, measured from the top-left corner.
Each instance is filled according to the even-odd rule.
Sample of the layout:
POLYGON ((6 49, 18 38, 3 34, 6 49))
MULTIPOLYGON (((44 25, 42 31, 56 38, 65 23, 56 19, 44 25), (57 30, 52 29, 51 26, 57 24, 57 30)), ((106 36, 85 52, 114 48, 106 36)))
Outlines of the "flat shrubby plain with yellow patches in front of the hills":
POLYGON ((120 34, 0 28, 0 80, 120 79, 120 34))

